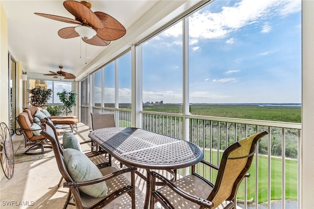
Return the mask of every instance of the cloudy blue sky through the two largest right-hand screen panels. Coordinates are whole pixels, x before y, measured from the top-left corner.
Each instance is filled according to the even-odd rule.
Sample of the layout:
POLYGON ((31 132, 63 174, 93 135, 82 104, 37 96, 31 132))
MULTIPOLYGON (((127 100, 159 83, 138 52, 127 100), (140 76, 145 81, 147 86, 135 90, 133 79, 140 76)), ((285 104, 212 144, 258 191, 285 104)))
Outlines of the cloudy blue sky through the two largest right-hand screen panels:
MULTIPOLYGON (((190 103, 301 103, 301 0, 215 0, 189 20, 190 103)), ((182 103, 182 23, 143 45, 143 101, 182 103)))

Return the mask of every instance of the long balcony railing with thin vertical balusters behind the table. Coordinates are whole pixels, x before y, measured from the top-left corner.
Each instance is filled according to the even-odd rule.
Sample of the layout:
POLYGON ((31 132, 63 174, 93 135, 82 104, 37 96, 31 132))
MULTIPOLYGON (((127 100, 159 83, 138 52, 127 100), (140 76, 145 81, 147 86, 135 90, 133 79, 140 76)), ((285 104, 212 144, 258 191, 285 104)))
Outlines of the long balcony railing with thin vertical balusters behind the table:
MULTIPOLYGON (((103 109, 115 113, 119 126, 131 125, 131 110, 103 109)), ((219 166, 222 152, 237 140, 266 130, 257 147, 250 178, 245 178, 237 193, 237 205, 244 209, 300 206, 301 124, 235 118, 219 118, 174 113, 141 111, 142 129, 189 140, 204 151, 205 160, 219 166), (183 122, 186 123, 183 123, 183 122), (188 131, 184 131, 185 129, 188 131), (183 132, 184 131, 184 132, 183 132), (183 134, 184 133, 184 134, 183 134), (258 203, 258 204, 256 204, 258 203)), ((197 167, 199 173, 215 181, 217 172, 197 167)), ((188 170, 181 169, 179 175, 188 170)))

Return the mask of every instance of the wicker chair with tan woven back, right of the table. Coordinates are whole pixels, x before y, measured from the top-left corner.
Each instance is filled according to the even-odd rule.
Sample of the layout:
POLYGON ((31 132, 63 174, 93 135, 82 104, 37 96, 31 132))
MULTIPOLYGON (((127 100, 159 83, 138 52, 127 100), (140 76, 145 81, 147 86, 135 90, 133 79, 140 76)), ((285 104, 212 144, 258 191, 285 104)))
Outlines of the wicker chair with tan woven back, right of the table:
POLYGON ((266 134, 267 132, 263 131, 229 146, 222 155, 219 167, 202 160, 202 163, 218 171, 214 184, 195 173, 195 165, 192 166, 191 175, 174 183, 152 171, 150 208, 154 208, 156 201, 166 209, 235 208, 238 186, 244 177, 250 176, 247 171, 251 166, 256 145, 266 134), (156 189, 156 178, 165 183, 165 186, 156 189))

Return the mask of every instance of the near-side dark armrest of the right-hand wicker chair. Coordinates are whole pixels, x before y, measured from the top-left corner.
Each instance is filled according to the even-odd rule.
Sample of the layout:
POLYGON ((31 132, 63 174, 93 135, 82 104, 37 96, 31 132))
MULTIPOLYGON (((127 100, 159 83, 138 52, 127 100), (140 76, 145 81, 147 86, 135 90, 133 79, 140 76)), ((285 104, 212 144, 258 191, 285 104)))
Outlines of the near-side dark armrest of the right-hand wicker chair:
POLYGON ((159 179, 162 183, 164 183, 165 185, 167 185, 169 188, 171 188, 174 192, 176 192, 178 195, 182 196, 183 198, 196 203, 200 206, 203 206, 205 208, 212 208, 213 204, 212 202, 210 202, 209 200, 203 199, 203 198, 199 198, 196 197, 194 195, 191 195, 187 192, 185 192, 184 190, 182 190, 181 188, 179 188, 176 184, 172 183, 171 181, 169 181, 168 179, 166 179, 164 176, 158 174, 155 171, 150 171, 150 174, 152 175, 152 191, 153 193, 157 193, 157 195, 160 195, 157 191, 155 191, 155 184, 156 184, 156 178, 159 179))

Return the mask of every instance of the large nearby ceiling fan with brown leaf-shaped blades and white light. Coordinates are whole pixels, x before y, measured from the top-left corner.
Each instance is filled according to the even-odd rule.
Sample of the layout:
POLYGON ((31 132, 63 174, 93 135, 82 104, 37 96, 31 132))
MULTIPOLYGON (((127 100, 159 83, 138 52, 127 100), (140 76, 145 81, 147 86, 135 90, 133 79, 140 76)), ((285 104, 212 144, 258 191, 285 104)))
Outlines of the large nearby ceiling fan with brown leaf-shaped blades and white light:
POLYGON ((74 19, 34 13, 65 23, 78 24, 76 27, 65 27, 58 31, 61 38, 74 38, 81 36, 87 44, 107 46, 110 41, 121 38, 126 34, 126 28, 116 19, 104 12, 93 12, 92 5, 87 1, 65 0, 63 6, 75 17, 74 19))

